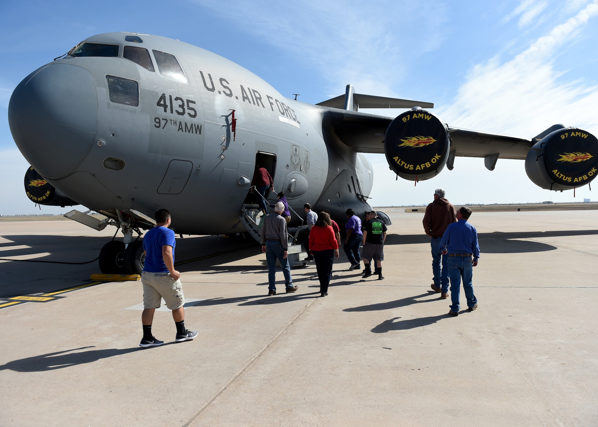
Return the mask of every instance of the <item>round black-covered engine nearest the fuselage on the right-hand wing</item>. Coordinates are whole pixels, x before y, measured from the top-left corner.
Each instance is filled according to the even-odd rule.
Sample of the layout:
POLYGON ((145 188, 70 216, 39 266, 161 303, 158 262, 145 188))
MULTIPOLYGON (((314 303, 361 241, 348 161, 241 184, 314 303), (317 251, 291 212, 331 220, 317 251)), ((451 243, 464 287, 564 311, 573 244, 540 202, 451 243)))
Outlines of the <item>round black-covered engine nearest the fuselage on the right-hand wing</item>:
POLYGON ((404 179, 423 181, 438 175, 447 163, 449 148, 447 126, 422 109, 405 111, 386 129, 386 161, 404 179))

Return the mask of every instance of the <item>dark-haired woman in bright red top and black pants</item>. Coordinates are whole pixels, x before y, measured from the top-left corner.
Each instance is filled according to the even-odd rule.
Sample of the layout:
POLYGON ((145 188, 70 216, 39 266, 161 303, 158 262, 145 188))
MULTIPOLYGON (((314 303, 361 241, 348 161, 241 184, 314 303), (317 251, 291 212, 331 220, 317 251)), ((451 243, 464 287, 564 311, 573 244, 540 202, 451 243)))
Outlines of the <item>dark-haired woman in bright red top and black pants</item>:
POLYGON ((332 276, 333 257, 338 258, 338 242, 332 230, 330 215, 318 213, 318 221, 309 233, 309 252, 316 261, 318 279, 320 280, 320 296, 328 295, 328 284, 332 276))

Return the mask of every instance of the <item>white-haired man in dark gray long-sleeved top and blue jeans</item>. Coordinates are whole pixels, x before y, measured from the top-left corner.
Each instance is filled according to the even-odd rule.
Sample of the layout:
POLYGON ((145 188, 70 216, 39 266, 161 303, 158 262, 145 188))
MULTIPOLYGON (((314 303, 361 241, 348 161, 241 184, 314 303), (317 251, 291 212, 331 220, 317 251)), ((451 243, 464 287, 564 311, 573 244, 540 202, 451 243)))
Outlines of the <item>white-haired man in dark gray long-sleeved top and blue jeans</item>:
POLYGON ((276 203, 274 213, 270 213, 264 218, 261 226, 262 252, 266 254, 268 263, 268 296, 276 295, 276 260, 280 261, 282 273, 285 275, 286 293, 296 292, 299 286, 293 286, 291 278, 291 266, 288 260, 288 232, 286 230, 286 221, 280 216, 285 211, 285 205, 282 202, 276 203))

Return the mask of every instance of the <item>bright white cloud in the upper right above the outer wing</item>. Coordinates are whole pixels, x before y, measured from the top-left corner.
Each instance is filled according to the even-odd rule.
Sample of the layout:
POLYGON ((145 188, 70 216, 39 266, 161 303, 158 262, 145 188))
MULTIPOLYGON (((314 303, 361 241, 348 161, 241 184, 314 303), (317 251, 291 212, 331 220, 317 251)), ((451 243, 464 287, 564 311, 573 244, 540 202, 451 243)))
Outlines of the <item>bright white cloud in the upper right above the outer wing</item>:
POLYGON ((593 2, 512 60, 501 64, 495 58, 475 66, 453 104, 441 107, 438 114, 451 126, 518 136, 538 135, 555 123, 598 133, 598 86, 563 82, 564 71, 554 66, 559 48, 597 14, 598 4, 593 2))

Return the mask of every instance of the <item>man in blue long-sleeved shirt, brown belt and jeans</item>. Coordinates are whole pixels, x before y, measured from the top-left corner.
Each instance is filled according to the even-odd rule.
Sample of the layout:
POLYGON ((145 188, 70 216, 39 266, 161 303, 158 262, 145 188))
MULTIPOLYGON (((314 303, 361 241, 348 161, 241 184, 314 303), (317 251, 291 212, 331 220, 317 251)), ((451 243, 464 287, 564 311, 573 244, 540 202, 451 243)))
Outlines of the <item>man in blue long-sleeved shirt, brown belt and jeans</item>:
POLYGON ((459 315, 459 291, 463 279, 463 291, 467 298, 468 311, 478 308, 478 300, 474 295, 472 285, 473 269, 478 265, 480 258, 480 245, 478 245, 478 232, 467 220, 471 216, 471 209, 463 206, 457 211, 457 222, 449 224, 440 241, 440 250, 449 254, 449 278, 451 306, 449 314, 459 315), (473 261, 471 257, 473 256, 473 261))

